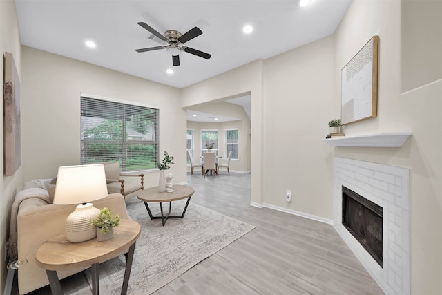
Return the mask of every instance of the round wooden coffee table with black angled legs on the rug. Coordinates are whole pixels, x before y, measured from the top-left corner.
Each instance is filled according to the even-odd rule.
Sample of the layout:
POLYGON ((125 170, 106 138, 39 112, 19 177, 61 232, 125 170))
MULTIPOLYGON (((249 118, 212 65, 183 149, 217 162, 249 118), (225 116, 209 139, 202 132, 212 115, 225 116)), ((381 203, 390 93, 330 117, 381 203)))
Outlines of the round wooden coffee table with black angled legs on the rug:
POLYGON ((188 185, 174 185, 173 191, 171 193, 164 191, 160 193, 160 189, 158 187, 150 187, 148 189, 144 189, 142 192, 138 193, 138 199, 144 202, 146 206, 147 213, 151 219, 161 219, 163 227, 166 224, 166 221, 169 218, 184 218, 184 214, 186 214, 187 206, 191 201, 192 195, 195 192, 193 187, 189 187, 188 185), (187 198, 186 206, 182 211, 181 215, 171 216, 171 207, 172 202, 177 200, 182 200, 187 198), (157 202, 160 203, 160 211, 161 216, 152 216, 151 209, 149 208, 147 202, 157 202), (169 213, 164 215, 163 211, 163 203, 169 202, 169 213))

